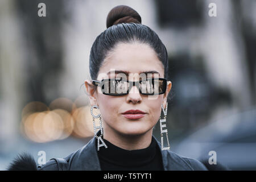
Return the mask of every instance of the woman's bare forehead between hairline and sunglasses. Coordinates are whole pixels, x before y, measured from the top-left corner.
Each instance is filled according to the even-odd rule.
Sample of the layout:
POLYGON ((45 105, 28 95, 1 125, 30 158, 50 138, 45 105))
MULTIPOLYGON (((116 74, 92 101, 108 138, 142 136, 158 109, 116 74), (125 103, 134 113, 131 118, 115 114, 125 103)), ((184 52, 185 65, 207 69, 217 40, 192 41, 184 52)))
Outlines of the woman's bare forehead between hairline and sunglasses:
POLYGON ((99 73, 152 74, 164 76, 162 62, 146 44, 119 44, 104 60, 99 73))

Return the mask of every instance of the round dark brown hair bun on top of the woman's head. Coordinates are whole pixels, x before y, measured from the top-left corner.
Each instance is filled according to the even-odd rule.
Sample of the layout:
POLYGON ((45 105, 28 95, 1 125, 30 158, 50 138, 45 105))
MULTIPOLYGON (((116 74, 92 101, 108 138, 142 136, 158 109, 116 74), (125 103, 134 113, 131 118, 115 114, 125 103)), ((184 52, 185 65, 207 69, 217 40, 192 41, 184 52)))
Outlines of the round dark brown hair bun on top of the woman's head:
POLYGON ((109 28, 118 23, 141 23, 141 16, 129 6, 115 6, 109 11, 106 27, 109 28))

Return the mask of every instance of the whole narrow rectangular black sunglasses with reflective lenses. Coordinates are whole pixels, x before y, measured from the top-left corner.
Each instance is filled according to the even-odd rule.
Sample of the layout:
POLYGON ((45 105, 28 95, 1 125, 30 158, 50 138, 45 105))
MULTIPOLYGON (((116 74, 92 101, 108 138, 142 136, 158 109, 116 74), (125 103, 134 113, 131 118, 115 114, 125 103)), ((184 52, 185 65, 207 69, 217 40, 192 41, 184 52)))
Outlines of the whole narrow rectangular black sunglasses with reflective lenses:
POLYGON ((146 78, 140 81, 128 81, 123 78, 109 78, 101 81, 92 80, 92 84, 101 86, 101 92, 109 96, 123 96, 137 86, 139 93, 147 96, 159 95, 166 92, 167 80, 165 78, 146 78))

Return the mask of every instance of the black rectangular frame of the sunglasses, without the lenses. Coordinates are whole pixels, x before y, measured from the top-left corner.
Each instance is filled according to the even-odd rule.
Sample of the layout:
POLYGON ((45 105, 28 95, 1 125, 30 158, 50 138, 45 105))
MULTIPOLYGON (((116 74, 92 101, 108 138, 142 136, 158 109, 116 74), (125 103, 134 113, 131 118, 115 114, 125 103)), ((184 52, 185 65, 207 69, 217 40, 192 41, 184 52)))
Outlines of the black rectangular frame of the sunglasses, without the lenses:
POLYGON ((107 78, 107 79, 102 79, 101 81, 97 81, 97 80, 92 80, 92 84, 93 85, 96 85, 96 86, 101 86, 101 92, 105 95, 108 95, 108 96, 125 96, 127 95, 131 88, 133 86, 137 86, 137 89, 139 90, 139 93, 143 94, 143 95, 146 95, 146 96, 155 96, 155 95, 160 95, 160 94, 164 94, 166 92, 166 88, 167 88, 167 80, 166 78, 147 78, 147 80, 152 80, 154 81, 155 79, 157 80, 163 80, 164 81, 164 88, 163 88, 163 92, 161 93, 158 93, 158 94, 148 94, 148 93, 142 93, 141 89, 139 88, 139 83, 141 83, 142 81, 145 81, 145 80, 140 80, 140 81, 129 81, 129 80, 123 80, 123 81, 126 81, 126 82, 129 82, 129 88, 127 90, 127 93, 119 93, 119 94, 115 94, 115 93, 105 93, 104 90, 102 89, 102 83, 104 83, 105 81, 111 81, 111 80, 115 80, 115 81, 121 81, 122 78, 107 78), (120 80, 117 80, 117 79, 120 79, 120 80))

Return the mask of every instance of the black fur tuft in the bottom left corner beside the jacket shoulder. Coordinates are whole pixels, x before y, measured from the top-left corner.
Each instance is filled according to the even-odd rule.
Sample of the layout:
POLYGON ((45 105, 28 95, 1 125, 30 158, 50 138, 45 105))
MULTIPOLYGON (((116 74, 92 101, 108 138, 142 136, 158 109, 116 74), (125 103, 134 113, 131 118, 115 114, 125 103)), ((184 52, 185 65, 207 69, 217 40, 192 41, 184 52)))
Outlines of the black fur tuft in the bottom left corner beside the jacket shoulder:
POLYGON ((34 157, 31 154, 23 153, 16 156, 13 162, 7 167, 7 171, 37 171, 34 157))

